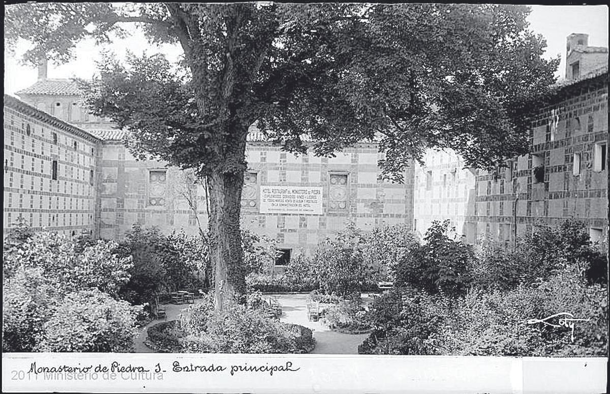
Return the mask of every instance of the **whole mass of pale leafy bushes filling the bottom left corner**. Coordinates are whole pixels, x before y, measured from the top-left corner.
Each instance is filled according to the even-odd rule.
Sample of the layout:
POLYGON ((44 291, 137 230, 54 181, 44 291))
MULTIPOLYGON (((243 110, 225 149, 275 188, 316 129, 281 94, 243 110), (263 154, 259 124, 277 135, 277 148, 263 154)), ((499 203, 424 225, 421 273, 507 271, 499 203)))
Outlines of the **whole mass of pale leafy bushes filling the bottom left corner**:
POLYGON ((117 254, 117 244, 77 244, 45 232, 8 239, 2 296, 4 351, 131 348, 135 315, 141 308, 114 298, 131 268, 131 258, 117 254))

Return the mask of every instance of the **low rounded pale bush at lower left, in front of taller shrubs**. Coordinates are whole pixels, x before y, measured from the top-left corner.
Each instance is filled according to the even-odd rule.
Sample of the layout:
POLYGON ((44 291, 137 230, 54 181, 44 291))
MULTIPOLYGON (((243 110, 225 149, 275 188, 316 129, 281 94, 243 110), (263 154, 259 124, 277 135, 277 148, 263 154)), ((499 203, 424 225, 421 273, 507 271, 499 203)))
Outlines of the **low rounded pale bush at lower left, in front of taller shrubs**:
POLYGON ((66 294, 43 326, 43 352, 132 351, 137 310, 97 289, 66 294))

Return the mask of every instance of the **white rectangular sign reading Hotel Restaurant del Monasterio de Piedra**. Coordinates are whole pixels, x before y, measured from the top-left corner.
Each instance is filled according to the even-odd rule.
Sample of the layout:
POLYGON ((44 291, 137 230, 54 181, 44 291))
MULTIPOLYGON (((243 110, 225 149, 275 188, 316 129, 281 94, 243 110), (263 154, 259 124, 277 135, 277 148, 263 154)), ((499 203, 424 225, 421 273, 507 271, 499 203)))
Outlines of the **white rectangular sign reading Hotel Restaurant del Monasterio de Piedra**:
POLYGON ((260 213, 322 214, 322 188, 260 186, 260 213))

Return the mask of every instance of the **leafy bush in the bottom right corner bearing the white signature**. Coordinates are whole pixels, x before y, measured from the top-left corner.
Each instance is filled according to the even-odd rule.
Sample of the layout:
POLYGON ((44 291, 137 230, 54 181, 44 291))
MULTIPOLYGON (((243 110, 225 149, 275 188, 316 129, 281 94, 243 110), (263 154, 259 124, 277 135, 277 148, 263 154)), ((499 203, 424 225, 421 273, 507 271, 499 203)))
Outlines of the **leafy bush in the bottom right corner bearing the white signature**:
POLYGON ((573 268, 511 291, 471 291, 448 311, 443 346, 454 355, 606 356, 607 297, 606 288, 587 286, 573 268), (559 312, 591 319, 576 322, 574 342, 569 329, 525 324, 559 312))

